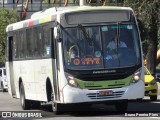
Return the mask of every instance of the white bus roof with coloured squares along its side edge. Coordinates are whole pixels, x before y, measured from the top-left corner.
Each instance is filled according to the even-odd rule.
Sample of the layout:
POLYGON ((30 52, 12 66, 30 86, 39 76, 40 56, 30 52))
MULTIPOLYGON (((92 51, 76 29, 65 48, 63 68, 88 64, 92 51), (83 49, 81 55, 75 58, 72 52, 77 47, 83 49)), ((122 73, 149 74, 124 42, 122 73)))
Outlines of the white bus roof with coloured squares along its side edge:
POLYGON ((6 32, 31 27, 34 25, 50 22, 53 20, 54 15, 63 14, 67 12, 76 11, 90 11, 90 10, 132 10, 130 7, 117 7, 117 6, 71 6, 71 7, 52 7, 43 11, 32 14, 30 19, 13 23, 7 26, 6 32))

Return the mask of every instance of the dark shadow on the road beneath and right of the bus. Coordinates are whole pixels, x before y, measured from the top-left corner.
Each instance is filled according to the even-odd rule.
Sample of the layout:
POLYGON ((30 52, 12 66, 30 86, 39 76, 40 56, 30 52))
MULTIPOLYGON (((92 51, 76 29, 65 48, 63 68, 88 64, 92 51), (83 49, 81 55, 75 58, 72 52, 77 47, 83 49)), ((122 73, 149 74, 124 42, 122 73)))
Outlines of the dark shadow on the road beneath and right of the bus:
MULTIPOLYGON (((159 103, 160 100, 154 102, 150 100, 131 101, 129 102, 126 112, 116 111, 114 105, 95 104, 92 106, 76 106, 74 109, 70 107, 72 110, 65 111, 64 114, 60 116, 124 116, 125 113, 160 113, 159 103)), ((51 104, 42 105, 41 110, 44 112, 45 116, 55 116, 52 112, 51 104)))

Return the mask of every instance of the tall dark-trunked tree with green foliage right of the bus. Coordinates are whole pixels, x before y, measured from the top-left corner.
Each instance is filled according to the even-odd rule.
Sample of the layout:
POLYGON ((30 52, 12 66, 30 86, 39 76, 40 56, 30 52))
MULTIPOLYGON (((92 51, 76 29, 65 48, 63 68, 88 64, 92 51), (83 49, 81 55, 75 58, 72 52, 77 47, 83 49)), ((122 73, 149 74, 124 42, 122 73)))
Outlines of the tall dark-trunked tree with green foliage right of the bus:
POLYGON ((159 0, 125 0, 126 6, 132 7, 145 27, 145 36, 143 43, 143 51, 147 59, 147 68, 152 74, 155 73, 157 45, 158 45, 158 29, 160 23, 160 3, 159 0), (143 6, 141 6, 143 4, 143 6), (158 19, 159 18, 159 19, 158 19), (147 50, 146 50, 147 48, 147 50))

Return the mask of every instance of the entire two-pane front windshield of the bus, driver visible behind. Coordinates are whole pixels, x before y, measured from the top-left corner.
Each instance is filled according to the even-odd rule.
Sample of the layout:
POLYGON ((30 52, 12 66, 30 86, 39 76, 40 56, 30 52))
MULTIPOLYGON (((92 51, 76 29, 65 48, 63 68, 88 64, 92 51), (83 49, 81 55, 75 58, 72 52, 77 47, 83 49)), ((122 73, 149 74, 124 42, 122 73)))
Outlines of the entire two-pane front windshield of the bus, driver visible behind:
POLYGON ((107 24, 63 29, 67 69, 111 69, 140 63, 140 42, 135 24, 107 24))

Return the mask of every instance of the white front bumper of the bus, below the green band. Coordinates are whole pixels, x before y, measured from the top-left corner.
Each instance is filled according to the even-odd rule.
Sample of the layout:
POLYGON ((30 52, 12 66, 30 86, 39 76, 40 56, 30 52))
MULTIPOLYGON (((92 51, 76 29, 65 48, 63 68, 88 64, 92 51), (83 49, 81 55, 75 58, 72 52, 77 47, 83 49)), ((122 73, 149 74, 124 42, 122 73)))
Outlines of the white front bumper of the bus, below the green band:
POLYGON ((63 101, 61 103, 85 103, 85 102, 104 102, 111 100, 137 100, 144 97, 144 82, 132 84, 130 86, 114 89, 88 90, 74 88, 66 85, 62 92, 63 101), (106 92, 107 91, 107 92, 106 92), (109 94, 101 94, 108 93, 109 94))

